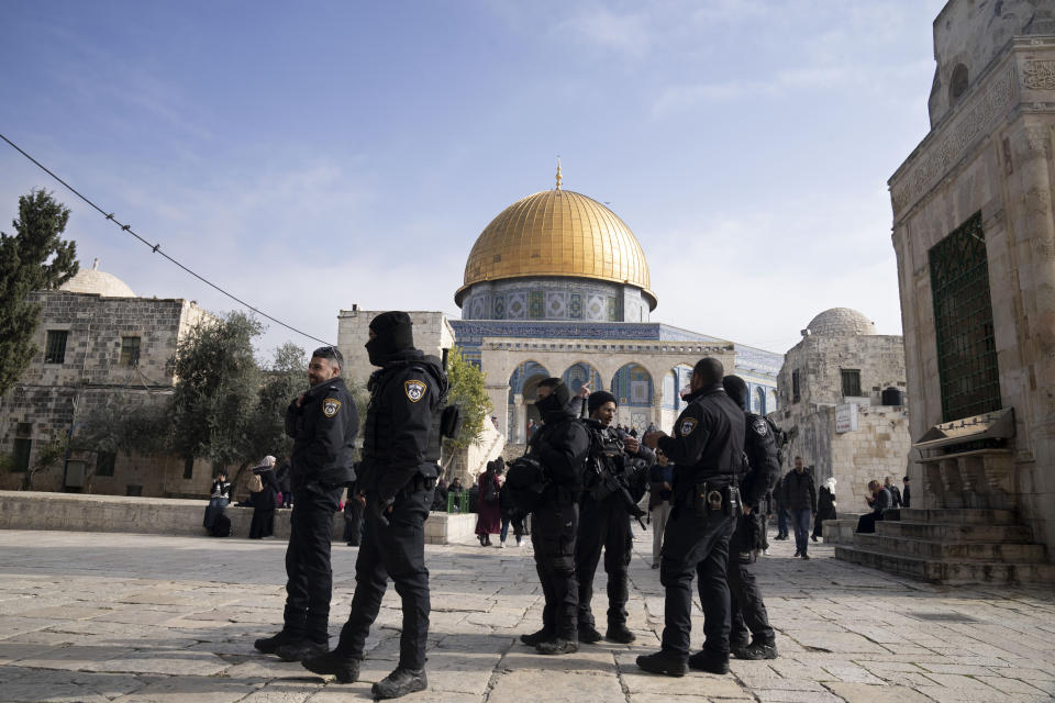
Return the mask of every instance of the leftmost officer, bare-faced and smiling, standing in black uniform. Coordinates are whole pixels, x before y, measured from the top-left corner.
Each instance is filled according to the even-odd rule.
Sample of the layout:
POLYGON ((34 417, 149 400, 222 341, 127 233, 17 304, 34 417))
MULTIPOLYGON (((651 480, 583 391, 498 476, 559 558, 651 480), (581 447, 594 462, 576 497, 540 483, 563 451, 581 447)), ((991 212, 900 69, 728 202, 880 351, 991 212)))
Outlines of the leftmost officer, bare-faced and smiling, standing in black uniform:
POLYGON ((355 480, 352 453, 359 428, 341 378, 343 364, 336 348, 315 349, 308 365, 311 388, 286 411, 286 434, 293 438, 290 483, 297 492, 286 549, 286 610, 281 632, 254 646, 287 661, 326 651, 330 638, 333 514, 344 487, 355 480))

